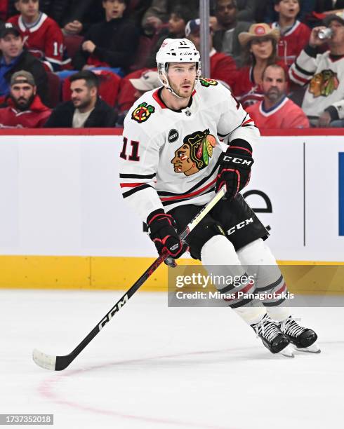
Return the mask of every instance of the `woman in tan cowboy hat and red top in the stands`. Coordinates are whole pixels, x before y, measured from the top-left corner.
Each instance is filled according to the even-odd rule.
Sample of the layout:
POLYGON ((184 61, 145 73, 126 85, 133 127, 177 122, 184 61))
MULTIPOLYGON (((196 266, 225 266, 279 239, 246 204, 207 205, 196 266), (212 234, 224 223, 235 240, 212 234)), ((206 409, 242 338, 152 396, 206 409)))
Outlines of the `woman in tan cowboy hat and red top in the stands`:
POLYGON ((276 62, 278 40, 279 30, 264 23, 252 24, 249 32, 239 34, 245 65, 237 71, 233 92, 245 109, 263 100, 260 86, 263 71, 267 65, 276 62))

